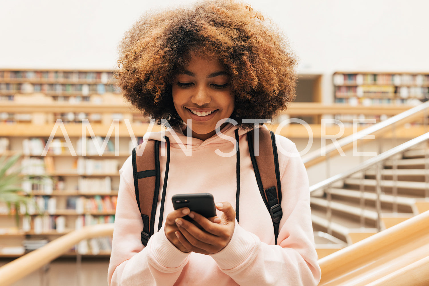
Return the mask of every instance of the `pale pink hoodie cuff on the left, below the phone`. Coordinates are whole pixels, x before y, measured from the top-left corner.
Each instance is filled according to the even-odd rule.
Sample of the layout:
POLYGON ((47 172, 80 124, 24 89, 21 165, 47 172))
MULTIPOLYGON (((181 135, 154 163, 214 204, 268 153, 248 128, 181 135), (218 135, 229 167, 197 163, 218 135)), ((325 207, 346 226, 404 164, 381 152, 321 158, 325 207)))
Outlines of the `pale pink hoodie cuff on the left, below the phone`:
POLYGON ((178 250, 166 237, 164 226, 152 235, 148 249, 154 261, 164 268, 178 268, 187 259, 189 253, 178 250))

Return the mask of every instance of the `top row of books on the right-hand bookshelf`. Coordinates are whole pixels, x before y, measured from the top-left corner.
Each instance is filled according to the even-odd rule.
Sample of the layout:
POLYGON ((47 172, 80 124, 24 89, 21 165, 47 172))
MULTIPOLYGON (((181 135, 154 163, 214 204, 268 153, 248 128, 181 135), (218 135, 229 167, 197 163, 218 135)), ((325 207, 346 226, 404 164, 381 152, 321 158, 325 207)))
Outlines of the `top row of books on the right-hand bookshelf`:
POLYGON ((335 73, 333 80, 335 85, 389 84, 394 86, 428 86, 429 74, 335 73))

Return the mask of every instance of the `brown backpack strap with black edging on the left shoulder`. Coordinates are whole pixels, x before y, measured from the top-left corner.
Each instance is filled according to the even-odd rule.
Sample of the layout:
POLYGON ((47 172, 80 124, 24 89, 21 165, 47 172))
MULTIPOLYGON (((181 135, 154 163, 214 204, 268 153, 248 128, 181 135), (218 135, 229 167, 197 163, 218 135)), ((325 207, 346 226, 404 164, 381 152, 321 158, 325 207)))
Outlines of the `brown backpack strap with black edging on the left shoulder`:
POLYGON ((133 149, 131 155, 134 190, 143 220, 141 238, 144 246, 148 244, 149 238, 154 234, 155 214, 160 189, 159 145, 160 141, 148 140, 141 158, 137 160, 136 148, 133 149))

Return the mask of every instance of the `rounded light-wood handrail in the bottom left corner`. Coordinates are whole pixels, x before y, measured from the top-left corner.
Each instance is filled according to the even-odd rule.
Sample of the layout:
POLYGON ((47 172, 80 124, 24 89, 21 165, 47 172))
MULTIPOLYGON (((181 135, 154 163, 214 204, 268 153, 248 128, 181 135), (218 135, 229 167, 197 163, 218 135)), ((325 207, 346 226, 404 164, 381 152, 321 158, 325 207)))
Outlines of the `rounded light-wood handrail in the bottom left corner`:
POLYGON ((112 236, 113 223, 85 226, 0 267, 0 285, 8 286, 48 264, 70 250, 79 241, 99 236, 112 236))

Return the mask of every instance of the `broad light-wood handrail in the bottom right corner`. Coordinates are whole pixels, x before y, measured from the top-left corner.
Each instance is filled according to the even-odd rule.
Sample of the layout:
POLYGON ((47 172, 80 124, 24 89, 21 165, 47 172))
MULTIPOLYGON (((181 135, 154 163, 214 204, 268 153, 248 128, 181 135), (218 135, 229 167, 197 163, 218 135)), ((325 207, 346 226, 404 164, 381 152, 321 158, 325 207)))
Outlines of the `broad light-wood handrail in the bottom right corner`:
POLYGON ((428 225, 426 211, 319 259, 319 285, 428 285, 428 225), (406 272, 402 283, 383 283, 399 279, 405 271, 415 277, 406 272))

